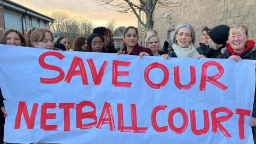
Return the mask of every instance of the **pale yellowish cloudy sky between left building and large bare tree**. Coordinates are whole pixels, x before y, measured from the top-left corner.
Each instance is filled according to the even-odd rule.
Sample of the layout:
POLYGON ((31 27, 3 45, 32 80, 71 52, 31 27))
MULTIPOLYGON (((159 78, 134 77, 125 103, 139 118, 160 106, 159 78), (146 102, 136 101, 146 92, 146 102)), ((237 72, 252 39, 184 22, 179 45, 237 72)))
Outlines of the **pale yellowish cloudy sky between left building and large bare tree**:
POLYGON ((63 11, 75 18, 83 18, 93 22, 95 27, 106 26, 107 22, 115 21, 115 27, 138 27, 134 14, 122 14, 95 4, 93 0, 11 0, 44 15, 54 11, 63 11))

